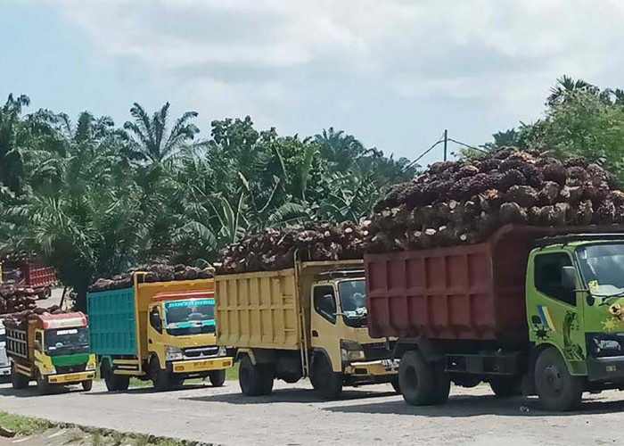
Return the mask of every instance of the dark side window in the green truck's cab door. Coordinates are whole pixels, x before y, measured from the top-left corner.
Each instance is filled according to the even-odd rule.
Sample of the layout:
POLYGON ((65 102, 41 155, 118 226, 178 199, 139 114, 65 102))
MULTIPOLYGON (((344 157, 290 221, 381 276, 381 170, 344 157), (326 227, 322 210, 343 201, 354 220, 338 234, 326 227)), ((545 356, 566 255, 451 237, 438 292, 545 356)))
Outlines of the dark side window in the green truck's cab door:
POLYGON ((548 297, 576 306, 576 294, 563 287, 562 267, 571 267, 572 260, 565 252, 539 254, 535 257, 535 287, 548 297))

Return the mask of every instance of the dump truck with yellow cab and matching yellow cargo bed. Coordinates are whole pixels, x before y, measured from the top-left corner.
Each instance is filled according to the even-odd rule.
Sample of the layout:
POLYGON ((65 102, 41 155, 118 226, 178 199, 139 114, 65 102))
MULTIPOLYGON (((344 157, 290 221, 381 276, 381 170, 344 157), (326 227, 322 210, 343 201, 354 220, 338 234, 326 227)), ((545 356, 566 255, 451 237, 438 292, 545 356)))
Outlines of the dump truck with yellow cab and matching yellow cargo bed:
POLYGON ((236 349, 249 396, 272 392, 275 378, 310 377, 322 399, 343 385, 390 383, 398 363, 390 340, 366 328, 362 260, 295 262, 279 271, 217 275, 218 344, 236 349))

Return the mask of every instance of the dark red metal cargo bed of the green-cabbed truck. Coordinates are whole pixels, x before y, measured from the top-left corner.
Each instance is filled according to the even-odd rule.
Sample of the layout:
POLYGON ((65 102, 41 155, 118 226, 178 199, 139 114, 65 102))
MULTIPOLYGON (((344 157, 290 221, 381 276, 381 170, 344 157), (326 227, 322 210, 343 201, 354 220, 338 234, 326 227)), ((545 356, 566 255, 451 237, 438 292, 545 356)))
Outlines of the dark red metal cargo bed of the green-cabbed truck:
POLYGON ((500 228, 482 244, 365 256, 373 337, 500 340, 527 336, 525 277, 533 243, 621 227, 500 228))

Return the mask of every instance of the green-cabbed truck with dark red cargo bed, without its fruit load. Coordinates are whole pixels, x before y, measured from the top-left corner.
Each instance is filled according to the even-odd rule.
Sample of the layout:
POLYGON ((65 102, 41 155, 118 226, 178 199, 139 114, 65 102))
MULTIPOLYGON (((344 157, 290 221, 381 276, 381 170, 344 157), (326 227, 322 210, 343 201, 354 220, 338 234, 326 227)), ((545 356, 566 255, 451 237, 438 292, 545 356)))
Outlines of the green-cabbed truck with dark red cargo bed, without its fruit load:
POLYGON ((480 244, 365 256, 369 332, 398 336, 407 403, 447 401, 449 383, 546 409, 624 389, 624 234, 507 225, 480 244))

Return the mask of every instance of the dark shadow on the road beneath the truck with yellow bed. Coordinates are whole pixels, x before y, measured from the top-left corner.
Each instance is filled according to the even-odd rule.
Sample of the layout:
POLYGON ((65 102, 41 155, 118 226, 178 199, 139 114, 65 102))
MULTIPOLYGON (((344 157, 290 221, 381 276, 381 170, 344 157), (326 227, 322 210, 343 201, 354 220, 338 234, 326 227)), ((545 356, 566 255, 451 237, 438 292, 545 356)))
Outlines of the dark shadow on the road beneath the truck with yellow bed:
MULTIPOLYGON (((370 392, 365 390, 344 390, 342 391, 341 401, 356 401, 370 398, 380 398, 384 396, 398 396, 394 391, 390 392, 370 392)), ((188 401, 204 401, 204 402, 226 402, 228 404, 267 404, 273 402, 322 402, 316 396, 316 392, 312 389, 278 389, 267 396, 245 396, 240 392, 221 393, 218 395, 207 395, 201 397, 183 398, 188 401)))

